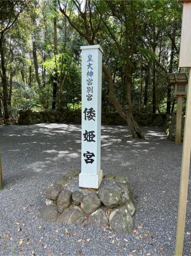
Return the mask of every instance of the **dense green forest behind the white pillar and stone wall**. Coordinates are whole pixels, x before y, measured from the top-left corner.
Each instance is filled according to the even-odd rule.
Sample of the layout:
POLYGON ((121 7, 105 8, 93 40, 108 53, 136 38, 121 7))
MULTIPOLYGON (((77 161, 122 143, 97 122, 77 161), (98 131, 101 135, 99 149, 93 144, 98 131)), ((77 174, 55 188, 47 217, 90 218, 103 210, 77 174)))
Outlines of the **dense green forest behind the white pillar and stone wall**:
POLYGON ((80 46, 100 44, 102 111, 143 137, 133 113, 174 111, 181 11, 177 0, 0 1, 0 118, 81 109, 80 46))

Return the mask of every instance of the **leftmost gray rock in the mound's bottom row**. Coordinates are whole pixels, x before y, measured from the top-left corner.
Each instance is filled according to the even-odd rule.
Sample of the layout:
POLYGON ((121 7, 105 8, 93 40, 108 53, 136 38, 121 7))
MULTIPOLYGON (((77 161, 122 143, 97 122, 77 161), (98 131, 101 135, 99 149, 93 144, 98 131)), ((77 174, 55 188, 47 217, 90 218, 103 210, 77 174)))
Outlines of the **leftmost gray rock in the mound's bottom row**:
POLYGON ((40 212, 40 218, 44 221, 57 221, 57 215, 57 206, 53 204, 43 206, 40 212))

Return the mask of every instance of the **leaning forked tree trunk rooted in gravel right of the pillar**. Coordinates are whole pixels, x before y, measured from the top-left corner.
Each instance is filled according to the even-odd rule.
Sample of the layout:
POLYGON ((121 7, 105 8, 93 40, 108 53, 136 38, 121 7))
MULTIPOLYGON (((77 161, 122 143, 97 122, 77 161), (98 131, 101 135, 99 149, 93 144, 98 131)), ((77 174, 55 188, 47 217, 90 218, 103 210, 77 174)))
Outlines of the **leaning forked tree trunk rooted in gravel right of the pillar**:
MULTIPOLYGON (((133 105, 130 99, 130 85, 128 84, 127 86, 127 97, 128 97, 128 104, 129 104, 129 112, 126 113, 123 109, 122 106, 118 103, 114 96, 114 91, 113 91, 113 79, 112 79, 112 74, 108 70, 108 68, 103 65, 103 72, 106 76, 106 79, 109 83, 109 100, 110 102, 115 106, 116 111, 119 113, 119 115, 127 122, 128 127, 130 128, 130 132, 133 136, 133 138, 144 138, 144 134, 141 131, 141 129, 138 127, 137 122, 133 119, 133 105)), ((127 83, 130 83, 130 79, 127 79, 127 83)))

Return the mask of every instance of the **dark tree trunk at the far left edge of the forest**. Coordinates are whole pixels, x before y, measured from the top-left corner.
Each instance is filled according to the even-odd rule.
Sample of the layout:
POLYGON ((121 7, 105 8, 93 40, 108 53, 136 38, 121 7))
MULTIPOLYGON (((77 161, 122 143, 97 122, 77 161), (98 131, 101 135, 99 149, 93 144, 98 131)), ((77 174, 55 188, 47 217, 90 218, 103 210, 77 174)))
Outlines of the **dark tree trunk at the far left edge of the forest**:
POLYGON ((3 106, 4 106, 4 121, 6 122, 7 119, 10 118, 8 112, 8 92, 7 92, 7 74, 5 68, 5 56, 4 56, 4 49, 2 46, 2 36, 0 38, 0 53, 1 53, 1 70, 2 70, 2 92, 3 92, 3 106))

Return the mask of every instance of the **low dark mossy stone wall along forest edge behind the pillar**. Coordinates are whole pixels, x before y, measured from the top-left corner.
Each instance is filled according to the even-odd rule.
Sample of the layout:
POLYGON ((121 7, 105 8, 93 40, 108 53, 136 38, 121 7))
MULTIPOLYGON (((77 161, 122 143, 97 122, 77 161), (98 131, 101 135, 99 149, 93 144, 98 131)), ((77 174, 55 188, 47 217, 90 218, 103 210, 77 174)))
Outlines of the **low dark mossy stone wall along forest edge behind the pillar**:
MULTIPOLYGON (((138 125, 162 126, 165 124, 165 114, 134 115, 138 125)), ((53 111, 32 112, 32 110, 20 110, 18 123, 20 125, 32 125, 41 123, 74 123, 81 124, 81 111, 53 111)), ((118 113, 102 113, 101 124, 125 125, 124 119, 118 113)))

